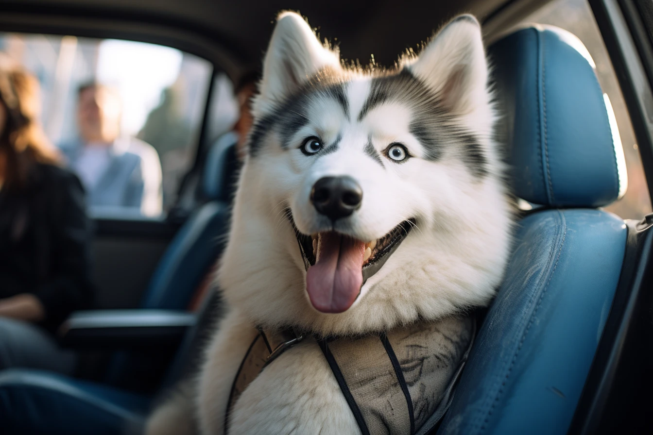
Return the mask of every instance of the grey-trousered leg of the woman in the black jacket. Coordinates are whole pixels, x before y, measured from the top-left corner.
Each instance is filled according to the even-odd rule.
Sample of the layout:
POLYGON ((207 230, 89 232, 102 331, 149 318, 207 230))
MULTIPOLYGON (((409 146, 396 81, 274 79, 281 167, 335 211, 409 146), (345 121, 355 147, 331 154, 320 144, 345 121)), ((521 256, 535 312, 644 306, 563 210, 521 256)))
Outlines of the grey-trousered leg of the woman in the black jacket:
POLYGON ((54 337, 38 326, 0 317, 0 370, 3 368, 40 368, 72 374, 77 357, 59 348, 54 337))

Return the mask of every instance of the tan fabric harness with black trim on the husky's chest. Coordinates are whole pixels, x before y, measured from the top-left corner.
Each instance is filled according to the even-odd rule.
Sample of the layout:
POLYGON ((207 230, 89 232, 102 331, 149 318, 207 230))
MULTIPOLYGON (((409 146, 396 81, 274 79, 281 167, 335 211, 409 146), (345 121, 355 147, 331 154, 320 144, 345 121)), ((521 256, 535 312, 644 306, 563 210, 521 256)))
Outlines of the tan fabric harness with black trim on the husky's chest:
POLYGON ((321 348, 362 435, 426 434, 449 408, 474 333, 473 315, 359 337, 320 338, 294 328, 259 328, 231 387, 225 434, 247 385, 302 340, 315 340, 321 348))

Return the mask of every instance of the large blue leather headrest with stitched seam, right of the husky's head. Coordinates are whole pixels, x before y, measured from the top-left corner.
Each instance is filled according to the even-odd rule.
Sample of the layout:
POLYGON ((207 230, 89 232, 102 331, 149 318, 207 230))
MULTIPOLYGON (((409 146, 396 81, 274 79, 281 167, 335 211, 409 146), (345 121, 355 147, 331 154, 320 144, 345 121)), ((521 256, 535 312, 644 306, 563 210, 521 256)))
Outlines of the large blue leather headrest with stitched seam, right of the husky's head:
POLYGON ((532 25, 492 44, 488 56, 515 194, 552 207, 600 207, 623 196, 614 113, 582 42, 532 25))

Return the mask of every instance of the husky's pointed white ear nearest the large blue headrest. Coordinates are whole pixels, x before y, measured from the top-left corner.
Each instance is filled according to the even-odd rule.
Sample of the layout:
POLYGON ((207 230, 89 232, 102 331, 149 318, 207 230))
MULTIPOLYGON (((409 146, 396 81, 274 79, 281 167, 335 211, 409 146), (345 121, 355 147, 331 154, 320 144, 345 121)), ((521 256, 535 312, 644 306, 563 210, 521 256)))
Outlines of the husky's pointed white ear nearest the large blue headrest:
POLYGON ((481 25, 461 15, 445 25, 407 68, 442 98, 449 110, 467 113, 486 99, 488 67, 481 25))

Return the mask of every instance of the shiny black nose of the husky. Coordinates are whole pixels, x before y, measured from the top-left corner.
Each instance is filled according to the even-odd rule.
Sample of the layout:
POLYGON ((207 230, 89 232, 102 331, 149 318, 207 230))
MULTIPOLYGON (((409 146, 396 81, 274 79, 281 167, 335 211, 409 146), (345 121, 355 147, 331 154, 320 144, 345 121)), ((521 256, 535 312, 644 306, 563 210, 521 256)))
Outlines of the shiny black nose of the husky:
POLYGON ((311 202, 317 213, 331 220, 347 217, 360 208, 363 191, 352 177, 324 177, 315 182, 311 202))

